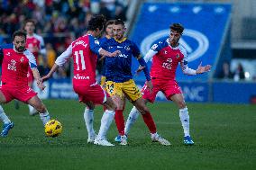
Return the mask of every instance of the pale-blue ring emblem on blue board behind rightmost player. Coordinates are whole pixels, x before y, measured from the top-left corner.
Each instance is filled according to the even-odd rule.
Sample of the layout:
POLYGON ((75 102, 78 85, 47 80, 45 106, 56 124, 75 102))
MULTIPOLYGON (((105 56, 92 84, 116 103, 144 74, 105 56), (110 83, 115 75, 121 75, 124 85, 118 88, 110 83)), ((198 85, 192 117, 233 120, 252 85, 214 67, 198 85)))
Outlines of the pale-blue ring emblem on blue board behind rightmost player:
MULTIPOLYGON (((168 38, 169 29, 168 30, 161 30, 155 31, 151 33, 151 35, 147 36, 141 43, 141 51, 142 55, 145 56, 149 49, 157 49, 158 45, 154 44, 157 40, 161 40, 163 38, 168 38)), ((206 35, 204 35, 200 31, 186 29, 183 32, 182 38, 180 38, 179 43, 187 50, 188 54, 188 61, 193 61, 197 58, 201 58, 209 48, 209 40, 207 39, 206 35), (190 39, 197 41, 197 47, 192 48, 195 44, 189 44, 188 41, 184 40, 183 38, 189 37, 190 39)))

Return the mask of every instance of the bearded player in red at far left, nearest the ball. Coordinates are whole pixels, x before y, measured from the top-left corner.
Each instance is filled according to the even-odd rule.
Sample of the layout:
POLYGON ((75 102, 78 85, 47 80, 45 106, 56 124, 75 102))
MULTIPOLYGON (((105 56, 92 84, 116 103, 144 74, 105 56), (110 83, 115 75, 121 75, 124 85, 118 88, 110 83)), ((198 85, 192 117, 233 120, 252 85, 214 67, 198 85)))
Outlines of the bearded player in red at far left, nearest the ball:
MULTIPOLYGON (((25 49, 26 33, 24 31, 15 31, 13 43, 13 45, 0 47, 1 60, 3 60, 0 103, 9 103, 14 99, 28 103, 40 112, 41 121, 44 125, 47 121, 50 121, 50 115, 37 94, 28 86, 28 67, 32 68, 32 74, 38 87, 43 90, 45 86, 41 82, 34 56, 29 50, 25 49)), ((10 121, 6 116, 1 105, 0 120, 4 121, 1 136, 6 137, 8 131, 14 127, 14 122, 10 121)))

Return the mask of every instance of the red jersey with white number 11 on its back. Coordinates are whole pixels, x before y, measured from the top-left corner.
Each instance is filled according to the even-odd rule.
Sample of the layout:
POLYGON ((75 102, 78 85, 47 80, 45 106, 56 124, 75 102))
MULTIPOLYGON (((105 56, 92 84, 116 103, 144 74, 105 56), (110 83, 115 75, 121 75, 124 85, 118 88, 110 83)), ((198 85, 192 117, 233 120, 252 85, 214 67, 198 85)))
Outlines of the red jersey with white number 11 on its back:
POLYGON ((96 60, 100 49, 99 41, 92 35, 86 34, 73 41, 55 63, 63 66, 69 57, 73 58, 73 83, 94 85, 96 84, 96 60))

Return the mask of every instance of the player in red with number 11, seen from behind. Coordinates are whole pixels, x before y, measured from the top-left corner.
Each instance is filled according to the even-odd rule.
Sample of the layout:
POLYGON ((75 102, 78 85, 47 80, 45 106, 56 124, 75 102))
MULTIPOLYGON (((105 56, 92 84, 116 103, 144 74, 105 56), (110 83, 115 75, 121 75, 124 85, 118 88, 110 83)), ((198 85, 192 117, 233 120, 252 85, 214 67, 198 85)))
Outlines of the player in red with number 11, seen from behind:
POLYGON ((47 76, 43 76, 41 80, 46 80, 52 76, 58 67, 63 66, 71 57, 74 60, 74 76, 73 88, 78 94, 79 101, 87 105, 84 112, 84 119, 88 132, 88 143, 94 143, 102 146, 114 146, 105 139, 106 131, 109 129, 114 119, 114 110, 116 108, 114 102, 105 90, 96 83, 96 60, 97 56, 114 57, 120 51, 113 53, 102 49, 99 41, 95 37, 99 37, 104 28, 105 17, 96 15, 88 22, 87 34, 73 41, 69 48, 66 49, 55 61, 47 76), (101 126, 96 137, 93 128, 94 109, 96 104, 102 104, 106 110, 101 119, 101 126))

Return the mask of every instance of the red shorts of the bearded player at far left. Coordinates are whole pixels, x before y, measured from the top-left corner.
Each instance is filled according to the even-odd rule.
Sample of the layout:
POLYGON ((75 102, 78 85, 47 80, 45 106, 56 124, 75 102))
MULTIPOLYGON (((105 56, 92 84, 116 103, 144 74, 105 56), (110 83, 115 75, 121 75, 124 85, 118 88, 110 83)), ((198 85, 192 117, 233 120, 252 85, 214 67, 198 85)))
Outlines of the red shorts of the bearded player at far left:
POLYGON ((10 87, 2 85, 0 91, 5 95, 6 102, 9 103, 14 99, 17 99, 23 103, 27 103, 33 96, 37 95, 31 87, 24 86, 23 88, 10 87))

